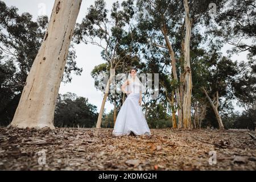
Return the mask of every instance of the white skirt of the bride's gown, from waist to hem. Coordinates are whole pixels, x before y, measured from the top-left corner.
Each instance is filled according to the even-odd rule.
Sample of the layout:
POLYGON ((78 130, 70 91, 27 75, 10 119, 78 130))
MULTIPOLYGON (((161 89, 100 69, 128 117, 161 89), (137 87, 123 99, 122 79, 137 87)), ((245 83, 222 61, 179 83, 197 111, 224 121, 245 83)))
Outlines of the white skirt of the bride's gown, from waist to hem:
POLYGON ((115 121, 113 135, 129 135, 131 132, 135 135, 151 135, 137 93, 130 93, 123 103, 115 121))

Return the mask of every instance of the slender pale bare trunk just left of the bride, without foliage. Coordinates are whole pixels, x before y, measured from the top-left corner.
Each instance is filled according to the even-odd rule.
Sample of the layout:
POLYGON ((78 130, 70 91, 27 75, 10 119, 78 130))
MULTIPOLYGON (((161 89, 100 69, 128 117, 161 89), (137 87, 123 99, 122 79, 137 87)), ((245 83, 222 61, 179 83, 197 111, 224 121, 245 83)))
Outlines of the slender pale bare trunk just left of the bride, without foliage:
POLYGON ((110 69, 110 77, 109 77, 109 80, 106 84, 106 88, 105 88, 105 92, 104 92, 104 97, 103 97, 103 100, 101 102, 101 109, 100 109, 100 113, 98 113, 98 119, 97 119, 97 123, 96 123, 96 128, 97 129, 100 129, 101 127, 101 121, 102 121, 102 115, 104 113, 104 108, 105 108, 105 104, 106 104, 106 99, 108 98, 108 94, 109 94, 109 86, 112 82, 112 79, 115 75, 115 69, 112 68, 110 69))

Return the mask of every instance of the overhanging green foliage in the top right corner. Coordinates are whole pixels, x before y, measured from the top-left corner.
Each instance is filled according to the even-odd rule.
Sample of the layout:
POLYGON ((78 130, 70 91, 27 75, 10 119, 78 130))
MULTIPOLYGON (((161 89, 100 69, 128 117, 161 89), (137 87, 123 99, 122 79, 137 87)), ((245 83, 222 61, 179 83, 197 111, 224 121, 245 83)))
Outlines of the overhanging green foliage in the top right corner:
POLYGON ((230 53, 247 51, 247 57, 255 60, 256 56, 256 2, 254 0, 233 0, 226 3, 216 18, 218 26, 213 29, 214 35, 220 36, 233 46, 230 53))

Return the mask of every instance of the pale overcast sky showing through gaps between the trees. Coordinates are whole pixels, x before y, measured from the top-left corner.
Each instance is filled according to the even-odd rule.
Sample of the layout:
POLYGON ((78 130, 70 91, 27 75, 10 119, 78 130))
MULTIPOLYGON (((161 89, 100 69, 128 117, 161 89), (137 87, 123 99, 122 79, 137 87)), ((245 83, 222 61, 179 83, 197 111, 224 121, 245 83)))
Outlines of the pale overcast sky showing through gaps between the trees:
MULTIPOLYGON (((2 0, 6 3, 7 6, 15 6, 19 9, 18 13, 22 14, 24 12, 28 12, 32 14, 34 20, 38 15, 47 15, 51 16, 51 11, 53 7, 53 0, 2 0)), ((107 9, 111 9, 113 2, 117 0, 107 0, 106 7, 107 9)), ((122 2, 119 1, 119 2, 122 2)), ((77 17, 77 23, 80 23, 82 18, 84 18, 87 9, 90 5, 93 5, 94 0, 84 0, 82 1, 79 16, 77 17)), ((90 104, 96 105, 98 111, 100 110, 101 101, 103 98, 103 93, 100 90, 97 90, 94 87, 94 80, 90 75, 92 69, 105 61, 102 60, 100 56, 101 48, 97 46, 93 46, 90 44, 74 44, 76 49, 76 62, 77 67, 82 68, 83 71, 81 76, 72 75, 72 82, 68 84, 64 84, 61 82, 60 85, 60 94, 64 94, 67 92, 76 93, 77 96, 82 96, 88 98, 90 104)), ((230 49, 231 46, 228 44, 224 46, 221 50, 224 55, 226 55, 226 51, 230 49)), ((240 53, 238 55, 233 55, 233 60, 246 60, 246 52, 240 53)), ((236 106, 236 101, 234 101, 235 110, 241 110, 240 107, 236 106)), ((106 102, 105 105, 106 112, 108 113, 111 109, 113 109, 113 105, 110 104, 109 101, 106 102)))

